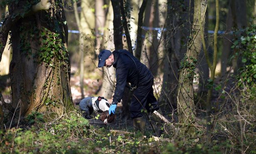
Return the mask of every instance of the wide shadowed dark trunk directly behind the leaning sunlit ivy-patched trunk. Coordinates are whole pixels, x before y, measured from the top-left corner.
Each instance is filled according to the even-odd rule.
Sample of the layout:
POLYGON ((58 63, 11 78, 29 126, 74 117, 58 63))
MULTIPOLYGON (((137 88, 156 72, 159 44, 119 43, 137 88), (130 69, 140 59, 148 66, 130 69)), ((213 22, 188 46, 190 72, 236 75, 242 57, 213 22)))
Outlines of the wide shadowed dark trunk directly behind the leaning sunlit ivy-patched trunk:
POLYGON ((164 56, 164 76, 162 82, 161 100, 167 104, 171 111, 177 107, 177 88, 179 81, 179 62, 184 57, 182 43, 186 43, 189 36, 189 0, 184 2, 167 1, 167 34, 166 52, 164 56), (185 29, 182 29, 183 26, 185 29), (182 36, 181 31, 185 31, 182 36))

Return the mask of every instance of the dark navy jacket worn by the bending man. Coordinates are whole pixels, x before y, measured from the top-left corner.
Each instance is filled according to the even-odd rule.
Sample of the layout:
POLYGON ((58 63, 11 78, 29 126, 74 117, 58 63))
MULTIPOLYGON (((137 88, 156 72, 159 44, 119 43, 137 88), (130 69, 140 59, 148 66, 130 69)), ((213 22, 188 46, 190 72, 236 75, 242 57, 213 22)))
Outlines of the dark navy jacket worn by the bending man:
POLYGON ((146 85, 154 77, 150 70, 127 50, 113 51, 112 53, 114 55, 113 67, 116 68, 117 77, 112 104, 117 104, 123 97, 126 82, 136 85, 137 75, 139 75, 139 84, 137 86, 146 85), (130 55, 131 58, 124 52, 130 55), (137 68, 132 59, 135 61, 137 68))

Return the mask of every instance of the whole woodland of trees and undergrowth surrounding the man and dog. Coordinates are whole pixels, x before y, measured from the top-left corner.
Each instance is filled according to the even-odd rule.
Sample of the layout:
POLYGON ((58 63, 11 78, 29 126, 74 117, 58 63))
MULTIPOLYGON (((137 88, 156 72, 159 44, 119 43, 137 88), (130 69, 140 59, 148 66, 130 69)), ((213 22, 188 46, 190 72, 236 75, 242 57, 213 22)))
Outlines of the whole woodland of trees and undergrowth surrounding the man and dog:
POLYGON ((0 12, 1 152, 256 153, 256 0, 1 0, 0 12), (75 105, 111 102, 114 68, 97 55, 122 48, 154 75, 171 122, 159 138, 154 121, 134 132, 129 89, 104 127, 75 105))

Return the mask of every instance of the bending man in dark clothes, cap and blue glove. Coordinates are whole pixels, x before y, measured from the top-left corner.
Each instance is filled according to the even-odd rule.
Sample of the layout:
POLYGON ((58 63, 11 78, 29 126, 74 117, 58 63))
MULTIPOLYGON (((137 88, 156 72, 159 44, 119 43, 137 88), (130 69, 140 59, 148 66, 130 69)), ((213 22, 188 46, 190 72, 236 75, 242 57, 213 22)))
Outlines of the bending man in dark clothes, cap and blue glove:
POLYGON ((130 113, 133 119, 133 125, 139 129, 142 134, 145 130, 145 120, 142 110, 147 110, 147 113, 160 111, 157 99, 153 94, 154 77, 150 70, 135 58, 127 50, 109 51, 102 50, 99 55, 98 67, 111 67, 116 70, 116 87, 112 105, 109 108, 109 114, 115 113, 117 103, 119 103, 124 94, 124 88, 129 87, 127 82, 131 84, 129 87, 134 90, 131 103, 130 113))

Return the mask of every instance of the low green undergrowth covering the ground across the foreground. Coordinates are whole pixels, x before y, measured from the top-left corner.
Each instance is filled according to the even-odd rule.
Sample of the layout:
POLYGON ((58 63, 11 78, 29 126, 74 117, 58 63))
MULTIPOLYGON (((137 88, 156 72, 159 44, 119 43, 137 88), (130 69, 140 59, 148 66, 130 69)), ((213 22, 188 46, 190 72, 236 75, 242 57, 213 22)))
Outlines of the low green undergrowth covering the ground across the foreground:
POLYGON ((110 131, 108 127, 89 125, 89 121, 76 112, 51 121, 43 119, 40 113, 33 113, 19 128, 0 130, 0 144, 0 153, 215 154, 222 153, 221 149, 225 150, 226 146, 208 149, 201 136, 189 139, 176 134, 175 139, 170 136, 156 141, 139 132, 110 131))

